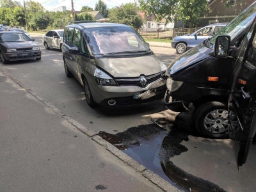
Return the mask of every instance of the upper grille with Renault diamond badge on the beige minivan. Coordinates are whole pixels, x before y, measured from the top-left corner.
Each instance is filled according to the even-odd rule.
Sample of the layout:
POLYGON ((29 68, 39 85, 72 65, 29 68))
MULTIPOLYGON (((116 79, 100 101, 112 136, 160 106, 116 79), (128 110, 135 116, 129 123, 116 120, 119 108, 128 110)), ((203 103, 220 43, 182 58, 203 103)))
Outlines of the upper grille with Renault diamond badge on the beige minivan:
MULTIPOLYGON (((141 76, 142 77, 142 76, 141 76)), ((154 81, 157 81, 158 79, 161 79, 162 73, 154 74, 151 76, 143 76, 145 79, 147 79, 147 84, 145 86, 142 86, 140 83, 140 78, 141 77, 136 77, 136 78, 116 78, 115 81, 118 85, 120 86, 139 86, 139 87, 145 87, 147 84, 150 84, 154 81)))

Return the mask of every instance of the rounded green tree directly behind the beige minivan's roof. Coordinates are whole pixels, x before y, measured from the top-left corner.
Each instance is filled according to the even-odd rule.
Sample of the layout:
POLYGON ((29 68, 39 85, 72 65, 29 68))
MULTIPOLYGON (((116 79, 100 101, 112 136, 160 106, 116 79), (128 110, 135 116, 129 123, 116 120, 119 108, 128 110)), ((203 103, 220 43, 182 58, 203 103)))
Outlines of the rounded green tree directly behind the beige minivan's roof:
POLYGON ((136 30, 140 29, 143 24, 143 19, 138 14, 138 7, 133 3, 111 8, 109 10, 109 21, 126 24, 136 30))

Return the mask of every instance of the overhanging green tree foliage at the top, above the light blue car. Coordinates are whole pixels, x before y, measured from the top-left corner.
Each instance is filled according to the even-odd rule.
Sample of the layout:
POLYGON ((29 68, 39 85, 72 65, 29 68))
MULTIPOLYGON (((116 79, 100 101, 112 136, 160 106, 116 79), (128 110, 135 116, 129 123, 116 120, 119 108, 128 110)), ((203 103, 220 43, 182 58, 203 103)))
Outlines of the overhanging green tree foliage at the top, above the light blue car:
POLYGON ((196 26, 200 15, 204 15, 208 8, 209 0, 138 0, 141 11, 153 13, 157 19, 165 18, 172 21, 173 18, 183 20, 189 26, 196 26))

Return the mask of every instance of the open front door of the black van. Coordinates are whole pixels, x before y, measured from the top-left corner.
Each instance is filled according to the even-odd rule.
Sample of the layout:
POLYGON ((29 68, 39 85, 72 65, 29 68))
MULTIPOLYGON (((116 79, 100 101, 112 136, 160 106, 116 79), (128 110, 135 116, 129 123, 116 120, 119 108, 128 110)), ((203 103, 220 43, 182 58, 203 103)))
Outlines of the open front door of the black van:
POLYGON ((255 20, 244 37, 230 81, 228 123, 237 166, 246 163, 256 132, 255 20))

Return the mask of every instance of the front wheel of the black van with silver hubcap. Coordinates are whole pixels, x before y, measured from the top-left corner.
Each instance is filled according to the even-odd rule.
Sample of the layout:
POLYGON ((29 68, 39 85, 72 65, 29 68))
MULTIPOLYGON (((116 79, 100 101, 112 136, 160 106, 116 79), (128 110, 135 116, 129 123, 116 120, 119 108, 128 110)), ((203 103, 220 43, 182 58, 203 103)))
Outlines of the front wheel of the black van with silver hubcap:
POLYGON ((223 102, 207 102, 194 113, 195 127, 207 138, 228 138, 228 107, 223 102))

